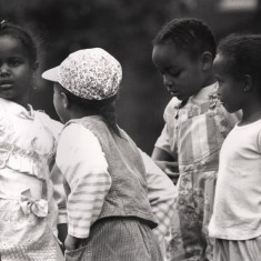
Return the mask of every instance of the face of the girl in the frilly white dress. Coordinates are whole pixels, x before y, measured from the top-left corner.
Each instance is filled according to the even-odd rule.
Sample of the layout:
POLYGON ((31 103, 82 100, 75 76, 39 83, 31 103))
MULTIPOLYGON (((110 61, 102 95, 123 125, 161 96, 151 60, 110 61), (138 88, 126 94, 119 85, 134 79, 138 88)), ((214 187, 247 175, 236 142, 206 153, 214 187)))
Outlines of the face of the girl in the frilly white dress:
POLYGON ((20 40, 0 37, 0 97, 27 106, 33 69, 20 40))

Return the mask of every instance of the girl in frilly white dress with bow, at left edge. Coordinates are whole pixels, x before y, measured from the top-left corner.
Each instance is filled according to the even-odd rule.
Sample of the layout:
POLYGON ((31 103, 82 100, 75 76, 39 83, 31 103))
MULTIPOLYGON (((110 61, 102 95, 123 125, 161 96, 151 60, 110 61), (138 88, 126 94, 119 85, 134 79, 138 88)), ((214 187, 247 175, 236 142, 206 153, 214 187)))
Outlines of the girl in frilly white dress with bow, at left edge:
POLYGON ((23 29, 0 24, 1 260, 63 260, 49 163, 62 124, 28 104, 37 48, 23 29))

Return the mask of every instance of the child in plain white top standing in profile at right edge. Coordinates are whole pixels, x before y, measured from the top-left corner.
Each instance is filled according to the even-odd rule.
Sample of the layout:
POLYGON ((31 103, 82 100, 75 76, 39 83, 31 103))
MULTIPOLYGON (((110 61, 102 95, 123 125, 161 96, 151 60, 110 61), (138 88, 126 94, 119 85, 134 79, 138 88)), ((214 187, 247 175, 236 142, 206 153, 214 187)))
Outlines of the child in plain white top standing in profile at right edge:
POLYGON ((223 39, 214 59, 220 100, 241 121, 220 151, 210 235, 215 261, 261 258, 261 34, 223 39))

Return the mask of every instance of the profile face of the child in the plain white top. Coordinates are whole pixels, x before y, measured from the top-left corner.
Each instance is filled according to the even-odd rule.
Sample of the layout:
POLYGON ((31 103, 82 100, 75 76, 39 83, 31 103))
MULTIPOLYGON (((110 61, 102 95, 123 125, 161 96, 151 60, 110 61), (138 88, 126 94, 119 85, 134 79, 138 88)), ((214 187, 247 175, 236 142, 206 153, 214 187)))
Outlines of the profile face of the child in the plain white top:
POLYGON ((214 76, 219 82, 219 94, 223 107, 229 112, 235 112, 242 109, 244 92, 242 82, 234 79, 228 71, 228 60, 218 54, 214 59, 214 76))

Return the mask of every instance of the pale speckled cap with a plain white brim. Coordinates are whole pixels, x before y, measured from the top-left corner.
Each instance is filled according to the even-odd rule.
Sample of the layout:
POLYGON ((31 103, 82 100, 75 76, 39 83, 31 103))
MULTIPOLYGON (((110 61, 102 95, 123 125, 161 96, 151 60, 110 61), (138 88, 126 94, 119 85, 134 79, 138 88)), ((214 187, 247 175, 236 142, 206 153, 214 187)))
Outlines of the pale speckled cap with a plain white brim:
POLYGON ((77 97, 103 100, 118 92, 122 69, 110 53, 91 48, 71 53, 60 66, 44 71, 42 78, 59 82, 77 97))

